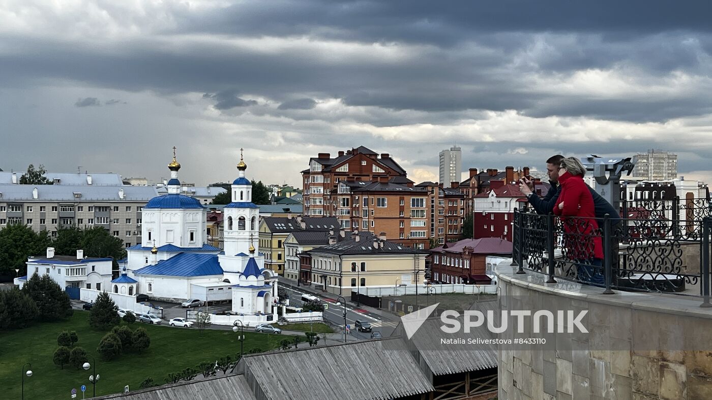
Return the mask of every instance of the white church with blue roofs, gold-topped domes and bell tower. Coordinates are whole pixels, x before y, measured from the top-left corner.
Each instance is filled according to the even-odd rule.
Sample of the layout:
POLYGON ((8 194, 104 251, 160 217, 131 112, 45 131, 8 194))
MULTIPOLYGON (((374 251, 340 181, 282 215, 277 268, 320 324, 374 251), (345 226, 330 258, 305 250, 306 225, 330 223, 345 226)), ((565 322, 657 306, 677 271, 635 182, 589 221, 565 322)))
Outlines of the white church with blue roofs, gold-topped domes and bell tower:
MULTIPOLYGON (((168 193, 143 207, 143 243, 127 249, 125 275, 120 279, 136 281, 137 293, 157 300, 231 299, 236 313, 276 320, 277 278, 264 269, 264 256, 256 254, 252 244, 258 237, 259 207, 252 203, 242 156, 239 177, 231 185, 231 203, 224 208, 224 252, 205 244, 207 209, 199 200, 180 194, 175 154, 168 168, 168 193)), ((118 286, 112 289, 120 290, 118 286)))

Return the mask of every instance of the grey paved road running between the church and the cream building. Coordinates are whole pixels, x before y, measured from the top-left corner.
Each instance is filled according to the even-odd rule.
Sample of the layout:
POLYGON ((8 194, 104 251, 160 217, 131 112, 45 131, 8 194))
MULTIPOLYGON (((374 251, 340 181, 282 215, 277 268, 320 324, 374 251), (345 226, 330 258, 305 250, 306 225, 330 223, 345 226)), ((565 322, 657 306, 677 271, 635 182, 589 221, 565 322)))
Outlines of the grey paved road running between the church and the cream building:
MULTIPOLYGON (((299 288, 290 287, 286 285, 282 285, 281 287, 284 288, 289 294, 289 303, 290 306, 293 307, 302 306, 301 296, 303 294, 310 294, 314 296, 314 293, 308 293, 306 291, 300 290, 299 288)), ((325 320, 327 320, 332 325, 336 325, 338 327, 337 330, 341 331, 341 337, 343 338, 342 327, 344 325, 344 305, 340 304, 337 306, 334 299, 330 297, 320 296, 320 299, 325 303, 329 304, 328 309, 324 312, 325 320)), ((380 332, 381 335, 383 335, 384 337, 391 335, 397 325, 397 321, 385 319, 384 315, 365 310, 364 308, 358 308, 357 306, 351 303, 347 303, 346 323, 347 325, 351 325, 350 335, 348 335, 347 340, 365 340, 371 338, 371 333, 358 332, 355 329, 355 320, 365 320, 371 323, 373 330, 380 332)))

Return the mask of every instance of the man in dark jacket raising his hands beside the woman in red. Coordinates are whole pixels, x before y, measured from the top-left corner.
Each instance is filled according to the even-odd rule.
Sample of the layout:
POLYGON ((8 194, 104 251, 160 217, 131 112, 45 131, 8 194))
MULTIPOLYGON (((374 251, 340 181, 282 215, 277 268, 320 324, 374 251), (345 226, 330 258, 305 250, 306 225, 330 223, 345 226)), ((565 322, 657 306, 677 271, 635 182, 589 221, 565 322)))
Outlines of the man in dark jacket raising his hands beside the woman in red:
MULTIPOLYGON (((544 198, 539 198, 538 195, 534 193, 534 183, 527 179, 522 178, 519 180, 519 190, 527 196, 527 201, 537 212, 537 214, 547 215, 554 209, 556 204, 556 199, 559 198, 561 194, 561 185, 559 184, 559 167, 561 166, 561 161, 564 156, 557 154, 556 156, 551 156, 546 161, 546 174, 549 176, 549 183, 551 183, 551 189, 544 196, 544 198)), ((595 213, 597 218, 603 218, 604 215, 608 214, 611 219, 611 224, 616 225, 620 221, 619 213, 613 208, 611 203, 607 202, 606 199, 602 198, 595 190, 588 188, 593 196, 593 205, 595 207, 595 213)))

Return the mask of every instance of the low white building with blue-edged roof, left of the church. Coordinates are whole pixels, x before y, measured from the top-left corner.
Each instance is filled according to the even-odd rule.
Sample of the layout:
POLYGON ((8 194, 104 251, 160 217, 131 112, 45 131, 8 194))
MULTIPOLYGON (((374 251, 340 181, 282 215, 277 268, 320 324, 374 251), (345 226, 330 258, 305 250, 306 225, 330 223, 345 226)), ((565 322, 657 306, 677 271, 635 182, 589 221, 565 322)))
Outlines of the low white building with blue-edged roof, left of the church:
POLYGON ((22 288, 33 274, 47 275, 61 288, 88 288, 107 290, 111 282, 112 258, 84 257, 83 250, 76 256, 57 256, 54 247, 48 247, 45 256, 27 260, 27 275, 15 279, 22 288))

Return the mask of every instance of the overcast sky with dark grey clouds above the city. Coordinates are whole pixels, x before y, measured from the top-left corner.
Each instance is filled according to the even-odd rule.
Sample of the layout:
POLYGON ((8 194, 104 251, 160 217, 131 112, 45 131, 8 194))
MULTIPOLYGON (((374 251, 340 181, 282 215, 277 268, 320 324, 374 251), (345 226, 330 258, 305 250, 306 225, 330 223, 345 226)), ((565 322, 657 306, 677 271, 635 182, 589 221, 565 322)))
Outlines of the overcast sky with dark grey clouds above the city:
POLYGON ((437 180, 554 153, 712 182, 710 1, 0 0, 0 168, 299 184, 319 152, 437 180), (545 5, 545 6, 544 6, 545 5))

